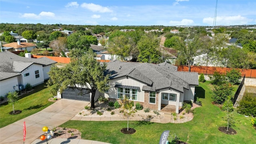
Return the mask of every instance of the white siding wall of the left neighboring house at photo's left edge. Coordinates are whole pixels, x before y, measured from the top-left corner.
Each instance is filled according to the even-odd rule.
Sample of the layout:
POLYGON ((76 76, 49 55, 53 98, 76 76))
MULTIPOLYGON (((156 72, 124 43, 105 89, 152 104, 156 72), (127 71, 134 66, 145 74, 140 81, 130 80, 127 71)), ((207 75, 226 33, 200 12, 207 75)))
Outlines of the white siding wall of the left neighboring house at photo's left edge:
POLYGON ((19 90, 17 76, 0 81, 0 96, 5 96, 8 92, 16 90, 19 90))

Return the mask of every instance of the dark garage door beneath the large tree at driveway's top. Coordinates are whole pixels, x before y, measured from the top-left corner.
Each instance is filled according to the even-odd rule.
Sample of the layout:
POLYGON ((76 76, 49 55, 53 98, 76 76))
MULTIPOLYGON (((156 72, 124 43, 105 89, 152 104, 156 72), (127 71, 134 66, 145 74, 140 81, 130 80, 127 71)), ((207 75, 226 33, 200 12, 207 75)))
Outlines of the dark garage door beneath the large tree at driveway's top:
POLYGON ((76 89, 76 88, 68 87, 66 90, 62 92, 62 98, 90 102, 90 92, 86 88, 76 89))

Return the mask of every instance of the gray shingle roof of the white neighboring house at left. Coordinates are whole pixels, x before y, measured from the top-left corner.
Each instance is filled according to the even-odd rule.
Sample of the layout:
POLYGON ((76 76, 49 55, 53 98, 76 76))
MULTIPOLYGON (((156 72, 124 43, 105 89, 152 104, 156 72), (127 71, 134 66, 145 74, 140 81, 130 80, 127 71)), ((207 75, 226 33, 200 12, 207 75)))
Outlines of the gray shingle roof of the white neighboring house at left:
MULTIPOLYGON (((7 72, 7 73, 15 73, 15 72, 22 72, 31 64, 42 64, 43 66, 48 66, 54 63, 57 63, 54 60, 49 58, 25 58, 18 56, 12 52, 0 52, 0 72, 7 72)), ((3 78, 7 78, 3 77, 3 78)))

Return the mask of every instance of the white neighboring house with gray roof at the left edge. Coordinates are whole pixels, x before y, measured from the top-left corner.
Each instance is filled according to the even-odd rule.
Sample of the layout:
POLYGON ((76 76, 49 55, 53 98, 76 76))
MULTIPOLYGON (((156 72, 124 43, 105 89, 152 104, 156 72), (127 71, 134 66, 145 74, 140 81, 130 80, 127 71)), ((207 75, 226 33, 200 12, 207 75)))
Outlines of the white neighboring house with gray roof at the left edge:
POLYGON ((49 79, 50 67, 56 62, 45 57, 31 58, 29 53, 26 56, 28 58, 9 51, 0 52, 0 96, 21 90, 28 83, 36 86, 49 79))

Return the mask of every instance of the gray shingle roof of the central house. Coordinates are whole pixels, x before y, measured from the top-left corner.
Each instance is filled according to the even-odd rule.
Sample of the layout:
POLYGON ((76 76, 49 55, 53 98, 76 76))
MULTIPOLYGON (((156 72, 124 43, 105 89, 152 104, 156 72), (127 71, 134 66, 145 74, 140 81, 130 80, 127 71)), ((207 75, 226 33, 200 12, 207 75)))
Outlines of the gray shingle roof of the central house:
POLYGON ((161 64, 149 64, 138 62, 112 61, 107 63, 107 71, 112 74, 110 79, 128 76, 138 80, 146 86, 142 90, 158 91, 164 88, 172 88, 180 92, 189 85, 198 85, 197 73, 187 74, 194 77, 188 79, 184 72, 177 72, 177 67, 166 62, 161 64))

